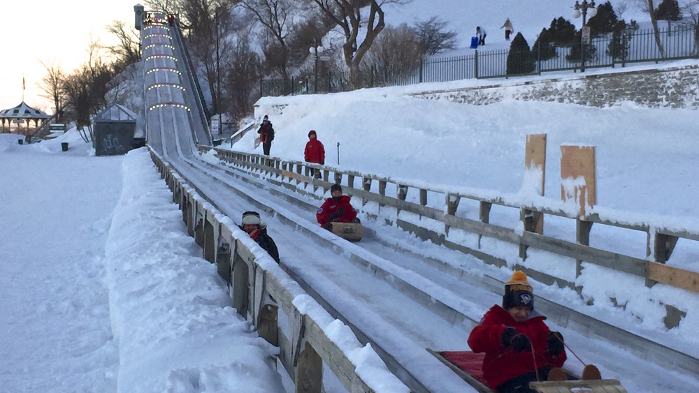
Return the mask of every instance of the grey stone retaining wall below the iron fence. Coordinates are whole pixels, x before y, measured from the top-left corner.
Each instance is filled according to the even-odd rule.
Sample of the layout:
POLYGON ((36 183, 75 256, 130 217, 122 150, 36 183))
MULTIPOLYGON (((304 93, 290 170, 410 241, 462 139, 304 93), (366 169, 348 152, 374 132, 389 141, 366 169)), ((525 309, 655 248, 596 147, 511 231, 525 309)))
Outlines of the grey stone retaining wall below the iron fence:
POLYGON ((471 105, 515 99, 609 107, 630 101, 645 107, 699 110, 699 65, 491 84, 414 96, 471 105))

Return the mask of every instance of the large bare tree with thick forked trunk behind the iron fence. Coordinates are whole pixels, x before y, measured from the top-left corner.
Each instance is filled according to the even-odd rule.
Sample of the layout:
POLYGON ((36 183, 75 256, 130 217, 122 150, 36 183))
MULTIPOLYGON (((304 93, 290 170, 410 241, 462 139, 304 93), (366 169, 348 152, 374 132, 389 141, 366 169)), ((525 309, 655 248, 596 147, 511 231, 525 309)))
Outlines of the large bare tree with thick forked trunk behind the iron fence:
POLYGON ((318 8, 327 17, 333 20, 345 34, 343 54, 345 64, 349 68, 352 84, 356 87, 359 76, 359 66, 366 52, 373 44, 376 37, 386 27, 384 22, 384 10, 382 6, 387 3, 405 4, 410 0, 313 0, 318 8), (368 7, 366 20, 362 17, 362 10, 368 7), (362 24, 366 27, 366 34, 358 44, 359 31, 362 24))

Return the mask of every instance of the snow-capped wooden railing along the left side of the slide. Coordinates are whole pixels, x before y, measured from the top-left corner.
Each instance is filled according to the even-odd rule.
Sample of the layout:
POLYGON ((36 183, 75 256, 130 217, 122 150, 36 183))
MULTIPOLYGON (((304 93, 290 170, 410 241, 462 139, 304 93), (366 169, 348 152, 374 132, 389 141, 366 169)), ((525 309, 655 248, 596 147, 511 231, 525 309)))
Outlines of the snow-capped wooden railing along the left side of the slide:
MULTIPOLYGON (((187 232, 203 249, 203 258, 217 265, 219 275, 228 284, 233 307, 243 317, 251 318, 261 337, 279 346, 278 357, 294 380, 296 392, 322 392, 323 363, 349 392, 375 392, 372 386, 385 383, 385 378, 396 378, 388 369, 377 370, 366 364, 363 367, 373 370, 364 378, 359 376, 358 364, 348 355, 364 347, 356 336, 353 341, 343 337, 342 346, 333 341, 325 331, 329 323, 338 321, 295 284, 266 252, 252 252, 255 242, 198 195, 157 153, 151 151, 151 156, 173 193, 173 201, 182 210, 187 232), (303 310, 298 304, 303 304, 303 310), (278 326, 279 311, 289 319, 289 332, 278 326)), ((376 359, 380 362, 378 355, 376 359)), ((398 378, 395 384, 404 386, 398 378)), ((408 392, 408 387, 403 391, 408 392)))

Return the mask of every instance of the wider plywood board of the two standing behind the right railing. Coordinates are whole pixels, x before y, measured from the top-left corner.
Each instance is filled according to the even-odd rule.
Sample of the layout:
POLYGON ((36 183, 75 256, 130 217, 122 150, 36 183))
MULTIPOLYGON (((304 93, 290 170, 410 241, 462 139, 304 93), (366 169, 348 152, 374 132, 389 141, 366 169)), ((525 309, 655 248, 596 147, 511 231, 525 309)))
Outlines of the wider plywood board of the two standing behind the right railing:
POLYGON ((582 217, 597 204, 596 184, 595 147, 561 146, 561 200, 575 200, 582 217))

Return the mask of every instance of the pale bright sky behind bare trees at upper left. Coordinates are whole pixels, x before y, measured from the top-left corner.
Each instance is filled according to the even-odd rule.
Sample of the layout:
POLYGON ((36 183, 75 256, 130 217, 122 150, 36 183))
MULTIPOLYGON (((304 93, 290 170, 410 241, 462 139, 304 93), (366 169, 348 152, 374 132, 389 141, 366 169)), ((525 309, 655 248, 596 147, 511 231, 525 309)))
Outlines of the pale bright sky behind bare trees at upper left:
POLYGON ((24 101, 32 107, 52 113, 52 103, 41 97, 45 69, 39 61, 53 59, 64 71, 71 72, 87 58, 90 34, 102 43, 110 43, 104 29, 114 20, 134 24, 136 0, 28 0, 3 1, 3 54, 0 60, 0 109, 22 101, 22 74, 27 90, 24 101))

